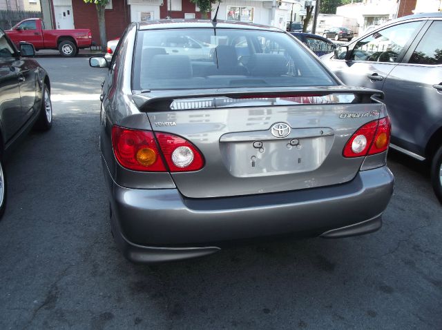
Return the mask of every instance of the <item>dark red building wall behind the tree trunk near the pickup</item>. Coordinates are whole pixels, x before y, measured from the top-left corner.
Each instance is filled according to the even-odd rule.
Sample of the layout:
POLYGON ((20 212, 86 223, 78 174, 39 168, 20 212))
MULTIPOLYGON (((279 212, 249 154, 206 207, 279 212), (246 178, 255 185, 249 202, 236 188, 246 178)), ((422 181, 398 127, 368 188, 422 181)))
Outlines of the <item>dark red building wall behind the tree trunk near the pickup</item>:
MULTIPOLYGON (((99 45, 97 9, 93 3, 72 0, 74 25, 77 29, 90 29, 92 41, 99 45)), ((106 10, 106 37, 108 40, 119 38, 131 23, 131 10, 126 0, 112 0, 113 9, 106 10)))

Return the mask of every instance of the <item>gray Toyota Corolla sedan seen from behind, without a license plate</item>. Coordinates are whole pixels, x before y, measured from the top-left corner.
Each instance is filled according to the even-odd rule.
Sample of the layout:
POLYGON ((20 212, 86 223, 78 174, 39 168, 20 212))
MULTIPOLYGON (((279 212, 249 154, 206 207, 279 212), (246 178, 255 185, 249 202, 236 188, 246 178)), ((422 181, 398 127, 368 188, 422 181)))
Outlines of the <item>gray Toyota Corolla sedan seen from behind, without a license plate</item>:
POLYGON ((112 232, 129 260, 381 227, 394 183, 382 92, 346 87, 286 32, 133 23, 111 63, 90 65, 108 68, 100 150, 112 232))

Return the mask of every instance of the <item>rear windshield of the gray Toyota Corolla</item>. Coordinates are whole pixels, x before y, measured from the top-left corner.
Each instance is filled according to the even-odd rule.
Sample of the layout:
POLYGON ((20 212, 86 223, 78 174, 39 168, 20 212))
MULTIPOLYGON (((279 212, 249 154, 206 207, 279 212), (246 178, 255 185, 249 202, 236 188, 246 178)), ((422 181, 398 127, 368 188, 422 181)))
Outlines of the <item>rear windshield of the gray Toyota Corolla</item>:
POLYGON ((285 33, 200 28, 138 33, 134 90, 336 85, 285 33))

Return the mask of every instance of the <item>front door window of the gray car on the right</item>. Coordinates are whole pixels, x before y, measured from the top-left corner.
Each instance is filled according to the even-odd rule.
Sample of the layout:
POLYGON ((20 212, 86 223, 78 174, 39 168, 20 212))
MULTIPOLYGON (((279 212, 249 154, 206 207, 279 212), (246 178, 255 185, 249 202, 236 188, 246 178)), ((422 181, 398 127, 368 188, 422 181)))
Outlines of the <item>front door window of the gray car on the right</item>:
POLYGON ((411 41, 422 22, 414 21, 394 25, 374 32, 356 43, 351 59, 355 61, 398 62, 405 45, 411 41))

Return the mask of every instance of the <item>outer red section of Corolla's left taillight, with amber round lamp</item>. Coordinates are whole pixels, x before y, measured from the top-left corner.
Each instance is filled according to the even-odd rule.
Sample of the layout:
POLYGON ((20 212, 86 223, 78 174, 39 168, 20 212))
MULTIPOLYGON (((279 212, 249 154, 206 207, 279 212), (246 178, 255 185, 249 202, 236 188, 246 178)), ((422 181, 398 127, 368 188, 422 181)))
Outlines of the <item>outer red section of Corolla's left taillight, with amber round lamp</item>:
POLYGON ((118 163, 127 169, 166 172, 153 132, 113 126, 112 147, 118 163))

